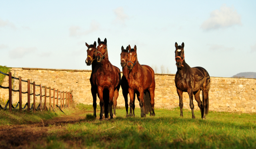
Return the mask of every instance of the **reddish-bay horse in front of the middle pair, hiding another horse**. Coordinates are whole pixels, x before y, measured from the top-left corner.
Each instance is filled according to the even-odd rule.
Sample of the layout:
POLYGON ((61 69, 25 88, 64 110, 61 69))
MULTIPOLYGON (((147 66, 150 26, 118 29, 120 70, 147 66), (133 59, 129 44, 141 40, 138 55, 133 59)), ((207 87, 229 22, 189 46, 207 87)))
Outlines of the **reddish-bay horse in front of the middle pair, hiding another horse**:
POLYGON ((129 70, 127 81, 128 81, 128 92, 130 95, 130 117, 132 117, 132 107, 134 104, 134 96, 136 93, 137 98, 140 102, 140 116, 146 117, 146 113, 150 112, 150 116, 155 116, 154 112, 154 96, 155 96, 155 73, 154 70, 147 65, 140 65, 137 58, 137 47, 131 49, 128 46, 128 63, 127 69, 129 70), (149 92, 149 100, 144 101, 144 93, 149 92), (152 112, 152 113, 151 113, 152 112))

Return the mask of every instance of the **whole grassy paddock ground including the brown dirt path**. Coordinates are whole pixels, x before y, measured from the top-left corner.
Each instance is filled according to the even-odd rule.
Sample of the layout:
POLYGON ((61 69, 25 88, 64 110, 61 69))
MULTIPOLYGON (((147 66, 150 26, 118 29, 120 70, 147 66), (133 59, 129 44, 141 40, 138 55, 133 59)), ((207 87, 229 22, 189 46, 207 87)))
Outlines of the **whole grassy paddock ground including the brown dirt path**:
POLYGON ((17 143, 6 139, 10 137, 6 135, 5 138, 0 137, 0 140, 3 139, 0 148, 256 148, 256 114, 209 112, 207 119, 201 120, 199 111, 195 111, 196 119, 192 119, 189 110, 184 110, 184 117, 180 118, 179 109, 156 109, 155 117, 147 115, 140 118, 140 109, 136 108, 135 118, 124 118, 125 109, 120 108, 116 110, 117 118, 98 120, 99 111, 95 119, 92 106, 82 104, 64 112, 66 115, 61 112, 23 114, 23 118, 29 120, 20 122, 17 120, 19 112, 12 113, 11 121, 2 116, 8 111, 0 111, 0 128, 7 129, 0 131, 0 136, 14 131, 14 127, 20 127, 20 131, 14 132, 12 137, 18 134, 16 137, 27 140, 17 143), (62 118, 64 121, 61 121, 62 118), (76 120, 65 121, 65 118, 76 120), (60 121, 56 122, 57 119, 60 121), (34 126, 28 124, 32 121, 34 126), (30 131, 31 135, 23 136, 26 131, 30 131), (31 139, 33 134, 36 138, 31 139))

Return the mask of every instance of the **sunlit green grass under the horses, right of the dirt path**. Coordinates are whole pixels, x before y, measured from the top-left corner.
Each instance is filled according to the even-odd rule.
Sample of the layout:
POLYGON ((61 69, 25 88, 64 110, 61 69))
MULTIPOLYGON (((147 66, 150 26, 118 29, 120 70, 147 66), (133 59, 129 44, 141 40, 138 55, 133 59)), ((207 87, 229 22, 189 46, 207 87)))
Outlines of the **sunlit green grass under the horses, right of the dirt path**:
MULTIPOLYGON (((99 108, 99 107, 98 107, 99 108)), ((124 118, 125 110, 116 110, 113 120, 93 120, 92 114, 82 114, 84 120, 50 129, 44 145, 35 148, 256 148, 256 115, 210 112, 206 120, 189 110, 180 118, 179 109, 157 109, 156 116, 124 118)), ((97 112, 99 116, 99 112, 97 112)))

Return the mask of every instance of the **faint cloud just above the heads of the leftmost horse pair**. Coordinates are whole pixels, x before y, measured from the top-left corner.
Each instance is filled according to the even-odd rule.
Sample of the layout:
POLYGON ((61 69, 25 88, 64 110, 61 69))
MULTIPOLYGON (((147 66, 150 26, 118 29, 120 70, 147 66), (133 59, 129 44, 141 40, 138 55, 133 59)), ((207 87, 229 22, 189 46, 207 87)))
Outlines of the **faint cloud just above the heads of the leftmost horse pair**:
POLYGON ((89 33, 93 33, 100 29, 100 24, 96 21, 92 21, 90 24, 90 28, 86 31, 82 31, 81 27, 79 26, 71 26, 69 28, 69 36, 71 37, 79 37, 82 35, 87 35, 89 33))

